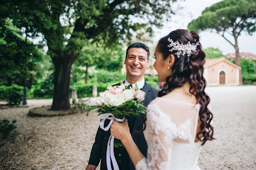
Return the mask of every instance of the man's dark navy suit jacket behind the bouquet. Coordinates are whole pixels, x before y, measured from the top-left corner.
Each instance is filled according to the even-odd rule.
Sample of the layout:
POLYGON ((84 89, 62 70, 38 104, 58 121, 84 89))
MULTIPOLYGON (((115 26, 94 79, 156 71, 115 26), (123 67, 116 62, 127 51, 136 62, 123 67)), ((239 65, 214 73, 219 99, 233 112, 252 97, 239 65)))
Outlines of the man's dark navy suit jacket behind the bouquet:
MULTIPOLYGON (((148 106, 148 104, 154 100, 154 98, 157 97, 158 90, 153 88, 152 86, 148 85, 145 82, 145 85, 143 86, 142 90, 146 93, 145 94, 145 100, 143 100, 143 105, 148 106)), ((139 116, 127 116, 127 121, 130 128, 131 136, 133 137, 134 143, 137 145, 139 150, 142 152, 142 154, 146 157, 147 156, 147 150, 148 145, 146 143, 145 137, 143 133, 138 133, 135 131, 142 130, 143 124, 142 124, 142 115, 139 116)), ((106 150, 107 150, 107 141, 110 136, 110 131, 103 131, 102 129, 98 128, 96 137, 95 137, 95 143, 92 145, 91 155, 89 163, 90 165, 98 166, 100 159, 101 161, 101 169, 107 169, 106 168, 106 150)), ((135 169, 133 163, 130 161, 130 170, 135 169)))

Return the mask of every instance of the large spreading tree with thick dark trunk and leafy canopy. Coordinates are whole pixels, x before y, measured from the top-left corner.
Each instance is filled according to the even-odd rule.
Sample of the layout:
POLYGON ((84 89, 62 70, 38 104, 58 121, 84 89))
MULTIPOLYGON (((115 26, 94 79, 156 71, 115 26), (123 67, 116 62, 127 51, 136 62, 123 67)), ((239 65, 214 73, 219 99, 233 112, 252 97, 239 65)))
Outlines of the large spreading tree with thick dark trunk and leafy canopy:
MULTIPOLYGON (((68 76, 63 74, 62 70, 69 73, 77 56, 88 57, 83 49, 85 45, 103 42, 102 45, 109 47, 127 43, 134 32, 142 28, 150 37, 153 34, 153 26, 161 27, 164 18, 169 19, 174 13, 172 2, 176 0, 12 0, 3 2, 0 13, 3 19, 13 19, 14 25, 22 28, 29 37, 34 38, 39 34, 44 37, 41 44, 47 45, 48 54, 55 69, 59 71, 55 72, 56 79, 58 78, 61 84, 68 84, 69 74, 68 76)), ((5 44, 4 41, 1 42, 5 44)), ((88 63, 85 64, 90 65, 94 59, 89 58, 88 63)), ((102 59, 95 60, 102 61, 102 59)), ((61 84, 55 84, 55 89, 58 89, 55 90, 56 96, 67 96, 63 94, 68 93, 67 86, 61 84)), ((54 100, 68 103, 62 102, 62 100, 67 101, 67 97, 54 100)), ((53 103, 57 104, 57 102, 53 103)), ((55 110, 61 108, 69 108, 69 105, 52 106, 55 110)))

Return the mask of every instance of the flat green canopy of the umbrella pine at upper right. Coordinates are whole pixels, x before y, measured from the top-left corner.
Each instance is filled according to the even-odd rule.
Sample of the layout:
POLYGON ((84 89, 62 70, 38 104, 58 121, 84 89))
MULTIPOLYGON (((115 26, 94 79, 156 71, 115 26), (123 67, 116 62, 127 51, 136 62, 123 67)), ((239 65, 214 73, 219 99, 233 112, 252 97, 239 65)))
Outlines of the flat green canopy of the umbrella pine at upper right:
POLYGON ((207 7, 197 19, 188 24, 192 31, 216 30, 223 34, 235 27, 235 34, 245 30, 252 34, 256 30, 256 2, 251 0, 224 0, 207 7))

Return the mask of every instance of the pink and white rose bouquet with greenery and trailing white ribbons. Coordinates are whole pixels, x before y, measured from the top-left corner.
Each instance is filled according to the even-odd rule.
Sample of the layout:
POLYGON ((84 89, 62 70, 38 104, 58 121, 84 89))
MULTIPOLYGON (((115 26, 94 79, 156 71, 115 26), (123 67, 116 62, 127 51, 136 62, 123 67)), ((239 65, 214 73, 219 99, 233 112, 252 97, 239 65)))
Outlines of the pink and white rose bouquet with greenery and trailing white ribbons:
MULTIPOLYGON (((106 91, 100 93, 98 104, 91 106, 88 111, 97 108, 98 115, 100 115, 100 128, 104 131, 108 131, 114 120, 123 122, 126 116, 138 116, 139 113, 146 114, 146 107, 142 104, 144 98, 145 92, 138 89, 137 84, 135 88, 131 85, 125 86, 124 84, 119 86, 108 85, 106 91), (107 119, 110 120, 110 122, 104 127, 104 122, 107 119)), ((111 162, 114 170, 119 169, 114 156, 114 147, 119 146, 122 146, 121 141, 114 139, 114 136, 110 135, 106 155, 107 169, 112 169, 111 162)))

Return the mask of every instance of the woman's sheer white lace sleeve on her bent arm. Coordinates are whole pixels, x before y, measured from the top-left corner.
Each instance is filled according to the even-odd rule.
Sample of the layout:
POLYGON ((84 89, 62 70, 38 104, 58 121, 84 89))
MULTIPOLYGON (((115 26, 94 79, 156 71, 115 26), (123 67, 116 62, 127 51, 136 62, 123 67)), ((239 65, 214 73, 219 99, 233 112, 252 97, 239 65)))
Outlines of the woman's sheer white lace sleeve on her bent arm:
POLYGON ((146 130, 148 135, 148 159, 139 161, 136 170, 169 169, 174 134, 170 129, 175 129, 174 124, 163 114, 160 114, 157 106, 148 106, 146 130))

